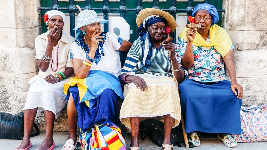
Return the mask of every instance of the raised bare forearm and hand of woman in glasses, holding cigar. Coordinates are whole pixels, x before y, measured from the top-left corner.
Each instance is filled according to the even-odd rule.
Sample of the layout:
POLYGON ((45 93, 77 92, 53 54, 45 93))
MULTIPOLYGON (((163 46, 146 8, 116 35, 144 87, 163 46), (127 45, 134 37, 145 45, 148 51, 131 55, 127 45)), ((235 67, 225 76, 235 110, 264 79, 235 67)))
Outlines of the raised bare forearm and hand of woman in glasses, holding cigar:
POLYGON ((188 29, 186 31, 186 37, 187 37, 187 44, 186 44, 186 50, 182 56, 181 64, 185 69, 190 69, 191 66, 194 63, 194 53, 193 53, 193 40, 195 38, 197 29, 188 29), (193 30, 193 31, 192 31, 193 30))

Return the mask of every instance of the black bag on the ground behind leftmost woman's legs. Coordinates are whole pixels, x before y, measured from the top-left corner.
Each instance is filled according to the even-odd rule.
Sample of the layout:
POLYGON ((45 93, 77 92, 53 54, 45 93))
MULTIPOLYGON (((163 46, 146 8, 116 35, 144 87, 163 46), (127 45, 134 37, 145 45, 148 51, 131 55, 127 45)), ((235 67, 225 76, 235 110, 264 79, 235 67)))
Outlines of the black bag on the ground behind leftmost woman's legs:
MULTIPOLYGON (((24 112, 11 114, 0 112, 0 139, 23 139, 23 123, 24 112)), ((39 135, 40 131, 35 123, 33 123, 36 133, 31 134, 31 137, 39 135)))

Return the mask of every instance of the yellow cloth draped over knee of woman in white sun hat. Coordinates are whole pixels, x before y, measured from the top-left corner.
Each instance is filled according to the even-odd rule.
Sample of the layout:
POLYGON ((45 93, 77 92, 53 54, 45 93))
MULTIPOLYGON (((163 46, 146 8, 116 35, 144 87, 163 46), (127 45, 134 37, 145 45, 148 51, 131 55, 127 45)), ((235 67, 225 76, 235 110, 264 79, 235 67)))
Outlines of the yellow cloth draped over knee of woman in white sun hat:
MULTIPOLYGON (((64 84, 64 93, 67 95, 68 89, 70 86, 75 86, 77 84, 79 94, 80 94, 80 102, 83 99, 85 93, 87 92, 88 86, 85 84, 86 83, 86 78, 84 79, 78 79, 77 77, 71 78, 69 82, 64 84)), ((89 107, 89 100, 84 101, 85 104, 89 107)))

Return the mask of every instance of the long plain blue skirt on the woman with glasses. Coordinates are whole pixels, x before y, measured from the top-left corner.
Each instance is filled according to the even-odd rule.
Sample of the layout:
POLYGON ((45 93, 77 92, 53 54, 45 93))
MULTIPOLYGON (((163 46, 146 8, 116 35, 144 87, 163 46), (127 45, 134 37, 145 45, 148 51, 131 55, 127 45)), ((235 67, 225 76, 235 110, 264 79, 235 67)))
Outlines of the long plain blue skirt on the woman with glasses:
POLYGON ((231 82, 198 82, 187 79, 179 85, 185 132, 241 134, 238 99, 231 82))

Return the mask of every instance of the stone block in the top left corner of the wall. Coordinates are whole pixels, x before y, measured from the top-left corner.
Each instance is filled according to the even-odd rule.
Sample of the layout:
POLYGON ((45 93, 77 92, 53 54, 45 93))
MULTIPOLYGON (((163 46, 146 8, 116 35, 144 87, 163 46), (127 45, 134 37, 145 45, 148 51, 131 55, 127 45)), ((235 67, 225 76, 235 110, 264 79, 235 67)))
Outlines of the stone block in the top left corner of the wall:
MULTIPOLYGON (((1 1, 1 9, 0 9, 0 28, 15 28, 16 20, 15 20, 15 2, 14 0, 1 1)), ((2 34, 0 34, 2 35, 2 34)), ((1 38, 2 40, 2 38, 1 38)), ((2 42, 2 41, 1 41, 2 42)))

